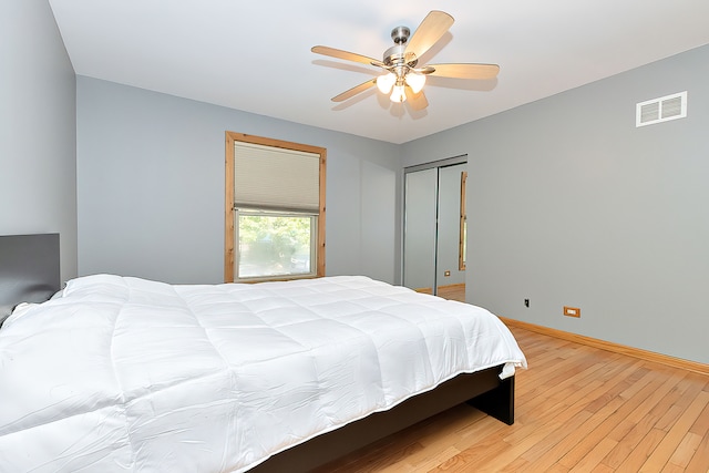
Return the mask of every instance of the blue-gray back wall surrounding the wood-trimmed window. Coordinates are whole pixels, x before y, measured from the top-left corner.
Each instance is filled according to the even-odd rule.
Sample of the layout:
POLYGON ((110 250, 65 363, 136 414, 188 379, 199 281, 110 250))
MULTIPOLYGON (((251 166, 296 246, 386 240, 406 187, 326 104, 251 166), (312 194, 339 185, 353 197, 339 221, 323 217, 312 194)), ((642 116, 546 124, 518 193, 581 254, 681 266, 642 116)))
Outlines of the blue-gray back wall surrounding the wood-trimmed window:
POLYGON ((224 134, 233 131, 326 147, 327 274, 399 279, 399 146, 76 81, 81 275, 223 281, 224 134))

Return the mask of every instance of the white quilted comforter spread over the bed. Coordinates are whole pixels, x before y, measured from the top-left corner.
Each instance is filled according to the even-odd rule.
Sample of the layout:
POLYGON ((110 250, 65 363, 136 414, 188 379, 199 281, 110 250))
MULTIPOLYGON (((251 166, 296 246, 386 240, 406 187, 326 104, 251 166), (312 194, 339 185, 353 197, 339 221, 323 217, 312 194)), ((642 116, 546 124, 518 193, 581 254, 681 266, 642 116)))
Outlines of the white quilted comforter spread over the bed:
POLYGON ((97 275, 0 330, 0 471, 245 471, 461 372, 526 366, 484 309, 366 277, 97 275))

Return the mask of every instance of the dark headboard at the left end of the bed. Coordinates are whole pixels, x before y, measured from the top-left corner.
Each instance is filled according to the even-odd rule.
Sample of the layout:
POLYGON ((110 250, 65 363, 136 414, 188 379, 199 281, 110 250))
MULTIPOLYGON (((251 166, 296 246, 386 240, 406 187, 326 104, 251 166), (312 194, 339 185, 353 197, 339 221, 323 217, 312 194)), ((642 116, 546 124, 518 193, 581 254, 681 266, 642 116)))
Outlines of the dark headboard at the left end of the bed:
POLYGON ((60 289, 59 234, 0 236, 0 325, 20 302, 60 289))

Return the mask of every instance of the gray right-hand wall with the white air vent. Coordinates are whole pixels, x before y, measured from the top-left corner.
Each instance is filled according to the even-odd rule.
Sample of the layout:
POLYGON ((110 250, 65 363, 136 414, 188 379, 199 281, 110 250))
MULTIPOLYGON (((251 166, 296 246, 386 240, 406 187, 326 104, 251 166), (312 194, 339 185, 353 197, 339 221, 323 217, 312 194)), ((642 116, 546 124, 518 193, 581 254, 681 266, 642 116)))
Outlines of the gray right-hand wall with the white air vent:
POLYGON ((708 113, 703 47, 408 143, 402 156, 467 154, 470 302, 709 362, 708 113), (635 127, 637 102, 685 90, 687 119, 635 127))

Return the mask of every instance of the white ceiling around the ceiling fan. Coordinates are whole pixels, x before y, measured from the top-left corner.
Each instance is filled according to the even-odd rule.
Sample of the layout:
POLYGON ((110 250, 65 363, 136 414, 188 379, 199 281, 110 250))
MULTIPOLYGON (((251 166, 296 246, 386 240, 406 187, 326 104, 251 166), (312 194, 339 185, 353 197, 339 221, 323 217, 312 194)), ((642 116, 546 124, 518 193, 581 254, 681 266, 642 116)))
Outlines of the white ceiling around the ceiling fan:
POLYGON ((392 143, 709 43, 707 0, 49 1, 76 74, 392 143), (330 101, 380 70, 311 47, 381 59, 434 9, 455 23, 421 62, 496 63, 495 81, 430 78, 423 112, 376 89, 330 101))

